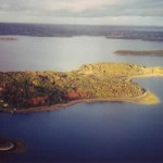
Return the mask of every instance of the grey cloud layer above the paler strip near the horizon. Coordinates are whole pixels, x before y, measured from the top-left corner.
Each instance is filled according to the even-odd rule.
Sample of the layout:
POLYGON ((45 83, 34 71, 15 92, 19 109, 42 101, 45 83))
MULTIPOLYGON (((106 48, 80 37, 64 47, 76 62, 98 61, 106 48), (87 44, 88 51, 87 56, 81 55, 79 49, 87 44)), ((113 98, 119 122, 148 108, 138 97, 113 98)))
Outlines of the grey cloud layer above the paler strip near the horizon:
POLYGON ((163 16, 162 0, 0 0, 3 12, 51 16, 163 16))

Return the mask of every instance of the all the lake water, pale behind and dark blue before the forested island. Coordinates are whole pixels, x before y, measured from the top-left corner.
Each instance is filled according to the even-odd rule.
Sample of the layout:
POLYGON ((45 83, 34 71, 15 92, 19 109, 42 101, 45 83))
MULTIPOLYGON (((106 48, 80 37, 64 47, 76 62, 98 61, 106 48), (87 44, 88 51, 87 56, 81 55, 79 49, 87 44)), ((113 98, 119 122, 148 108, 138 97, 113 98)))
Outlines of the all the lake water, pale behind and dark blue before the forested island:
MULTIPOLYGON (((0 41, 0 70, 67 71, 91 62, 162 65, 163 58, 118 57, 117 49, 156 50, 162 42, 101 37, 0 41)), ((135 79, 163 101, 163 78, 135 79)), ((80 103, 52 112, 0 114, 0 135, 25 142, 4 162, 163 161, 163 104, 80 103)))

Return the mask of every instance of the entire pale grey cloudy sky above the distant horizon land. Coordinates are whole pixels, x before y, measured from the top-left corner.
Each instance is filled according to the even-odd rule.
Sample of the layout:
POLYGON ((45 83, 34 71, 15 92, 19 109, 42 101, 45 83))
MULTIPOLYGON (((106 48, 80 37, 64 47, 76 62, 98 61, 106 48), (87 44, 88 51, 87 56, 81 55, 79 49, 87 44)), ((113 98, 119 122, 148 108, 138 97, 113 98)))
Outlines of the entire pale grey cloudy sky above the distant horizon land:
POLYGON ((163 26, 163 0, 0 0, 0 22, 163 26))

